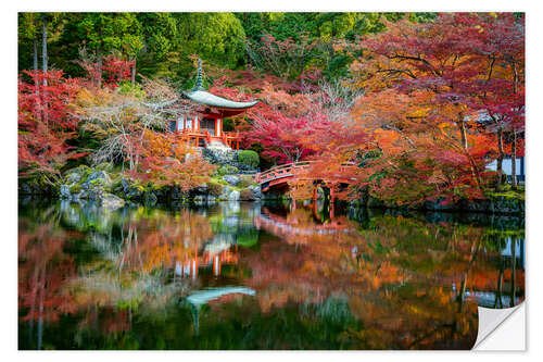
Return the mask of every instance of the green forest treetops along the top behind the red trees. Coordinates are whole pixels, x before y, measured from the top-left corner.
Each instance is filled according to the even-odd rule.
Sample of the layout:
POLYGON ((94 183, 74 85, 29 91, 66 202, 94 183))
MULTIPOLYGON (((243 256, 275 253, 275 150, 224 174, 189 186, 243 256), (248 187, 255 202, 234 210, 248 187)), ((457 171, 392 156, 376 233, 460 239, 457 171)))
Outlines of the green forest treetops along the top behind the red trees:
MULTIPOLYGON (((114 53, 136 59, 143 76, 185 79, 193 72, 189 55, 220 67, 242 70, 252 62, 248 43, 263 36, 277 40, 307 36, 318 47, 306 57, 308 66, 326 74, 344 74, 352 59, 332 49, 338 39, 382 32, 381 18, 397 21, 403 13, 47 13, 48 57, 53 68, 84 76, 75 63, 80 52, 98 58, 114 53)), ((412 13, 414 22, 434 20, 435 13, 412 13)), ((18 68, 33 67, 33 40, 41 38, 41 14, 20 13, 18 68)))

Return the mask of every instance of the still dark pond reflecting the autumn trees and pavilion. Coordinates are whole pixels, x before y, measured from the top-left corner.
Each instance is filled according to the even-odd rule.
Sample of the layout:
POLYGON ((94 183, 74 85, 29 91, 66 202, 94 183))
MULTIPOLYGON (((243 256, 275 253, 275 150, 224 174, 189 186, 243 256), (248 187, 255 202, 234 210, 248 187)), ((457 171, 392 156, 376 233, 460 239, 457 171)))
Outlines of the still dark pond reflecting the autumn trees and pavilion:
POLYGON ((470 349, 523 220, 317 202, 21 201, 20 349, 470 349))

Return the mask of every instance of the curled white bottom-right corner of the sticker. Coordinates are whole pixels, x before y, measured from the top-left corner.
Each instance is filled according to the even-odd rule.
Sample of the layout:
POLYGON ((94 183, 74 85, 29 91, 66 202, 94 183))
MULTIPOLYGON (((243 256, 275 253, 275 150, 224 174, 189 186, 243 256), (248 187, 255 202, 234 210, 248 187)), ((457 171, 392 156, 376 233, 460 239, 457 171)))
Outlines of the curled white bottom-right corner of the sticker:
POLYGON ((478 307, 479 330, 475 351, 525 351, 526 302, 513 308, 478 307))

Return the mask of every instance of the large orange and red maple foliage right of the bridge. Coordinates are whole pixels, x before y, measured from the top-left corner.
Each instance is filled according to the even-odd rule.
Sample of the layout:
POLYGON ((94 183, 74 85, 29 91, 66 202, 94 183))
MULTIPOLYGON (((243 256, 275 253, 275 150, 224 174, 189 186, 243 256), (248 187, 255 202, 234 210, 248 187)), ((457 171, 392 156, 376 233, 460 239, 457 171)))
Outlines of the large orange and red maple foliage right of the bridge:
POLYGON ((358 185, 406 202, 483 197, 496 129, 523 130, 523 20, 455 13, 386 23, 351 68, 368 91, 353 116, 381 154, 364 162, 358 185))

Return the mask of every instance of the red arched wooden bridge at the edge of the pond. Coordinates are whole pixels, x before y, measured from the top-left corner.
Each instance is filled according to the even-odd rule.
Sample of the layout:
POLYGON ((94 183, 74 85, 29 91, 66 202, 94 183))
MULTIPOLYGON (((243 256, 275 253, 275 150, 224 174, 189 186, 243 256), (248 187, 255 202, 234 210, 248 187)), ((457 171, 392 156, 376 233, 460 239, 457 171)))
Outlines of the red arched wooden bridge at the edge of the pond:
MULTIPOLYGON (((352 182, 352 179, 348 179, 341 174, 334 175, 333 179, 325 179, 318 175, 308 175, 307 170, 312 166, 312 164, 314 164, 314 162, 303 161, 275 166, 256 174, 255 182, 258 183, 263 192, 268 191, 272 187, 288 186, 289 182, 293 182, 295 179, 311 179, 315 182, 336 184, 351 184, 352 182)), ((355 167, 354 163, 345 163, 341 165, 339 173, 351 167, 355 167)))

